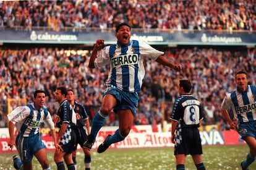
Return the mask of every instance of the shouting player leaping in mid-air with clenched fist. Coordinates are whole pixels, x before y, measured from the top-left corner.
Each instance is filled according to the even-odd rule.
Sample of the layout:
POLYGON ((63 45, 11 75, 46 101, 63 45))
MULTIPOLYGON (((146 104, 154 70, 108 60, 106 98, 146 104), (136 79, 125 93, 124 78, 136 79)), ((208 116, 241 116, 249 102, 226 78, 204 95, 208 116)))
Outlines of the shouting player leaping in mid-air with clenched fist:
POLYGON ((134 122, 138 103, 138 92, 145 75, 143 59, 152 59, 174 70, 181 70, 181 64, 168 61, 164 53, 152 48, 143 41, 130 40, 130 26, 121 23, 116 27, 116 45, 104 46, 104 40, 96 40, 88 67, 100 68, 109 64, 108 80, 105 83, 105 93, 101 109, 92 122, 91 134, 83 143, 90 150, 96 135, 103 126, 106 116, 114 110, 118 116, 119 129, 113 135, 108 135, 105 142, 98 147, 98 153, 105 151, 112 143, 120 142, 130 132, 134 122))

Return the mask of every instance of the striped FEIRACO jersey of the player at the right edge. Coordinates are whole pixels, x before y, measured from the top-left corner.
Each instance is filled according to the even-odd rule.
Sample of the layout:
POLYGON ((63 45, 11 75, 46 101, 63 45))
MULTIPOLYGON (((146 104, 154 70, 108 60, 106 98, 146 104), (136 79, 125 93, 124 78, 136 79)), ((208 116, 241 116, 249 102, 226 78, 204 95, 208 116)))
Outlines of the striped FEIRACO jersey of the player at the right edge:
POLYGON ((238 88, 224 98, 221 109, 231 106, 234 118, 239 122, 256 121, 256 86, 248 85, 245 91, 238 88))

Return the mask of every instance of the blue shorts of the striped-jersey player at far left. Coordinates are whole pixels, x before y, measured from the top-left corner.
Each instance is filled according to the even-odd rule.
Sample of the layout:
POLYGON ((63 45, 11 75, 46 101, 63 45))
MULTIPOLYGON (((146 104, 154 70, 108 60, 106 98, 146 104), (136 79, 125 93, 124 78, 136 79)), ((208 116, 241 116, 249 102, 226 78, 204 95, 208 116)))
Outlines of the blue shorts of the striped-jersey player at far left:
POLYGON ((32 137, 22 137, 19 134, 16 137, 15 143, 19 151, 20 159, 22 159, 24 163, 32 161, 33 155, 37 151, 46 148, 39 133, 32 137))

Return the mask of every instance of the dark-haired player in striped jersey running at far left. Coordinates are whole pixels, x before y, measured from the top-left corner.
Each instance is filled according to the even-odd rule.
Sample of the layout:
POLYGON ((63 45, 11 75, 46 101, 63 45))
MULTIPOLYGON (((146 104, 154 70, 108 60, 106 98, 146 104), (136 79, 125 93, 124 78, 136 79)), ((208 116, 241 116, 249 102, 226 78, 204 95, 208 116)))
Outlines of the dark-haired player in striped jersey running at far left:
POLYGON ((46 157, 45 144, 40 137, 40 125, 43 122, 51 129, 54 146, 56 150, 62 150, 56 140, 56 132, 54 122, 51 119, 51 114, 45 108, 45 91, 36 90, 34 93, 34 103, 15 108, 7 115, 9 122, 10 141, 8 145, 11 149, 16 144, 19 151, 20 161, 17 156, 14 156, 15 169, 32 169, 32 158, 36 156, 43 169, 49 168, 48 159, 46 157), (18 131, 18 135, 14 137, 14 127, 18 131))

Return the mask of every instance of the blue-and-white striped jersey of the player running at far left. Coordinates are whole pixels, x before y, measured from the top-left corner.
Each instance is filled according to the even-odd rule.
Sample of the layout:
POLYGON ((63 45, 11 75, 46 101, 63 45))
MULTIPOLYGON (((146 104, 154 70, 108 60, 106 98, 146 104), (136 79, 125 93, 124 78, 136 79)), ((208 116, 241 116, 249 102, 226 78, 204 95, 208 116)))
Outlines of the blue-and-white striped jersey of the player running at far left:
POLYGON ((9 121, 15 124, 15 127, 23 137, 31 137, 39 133, 40 125, 43 122, 49 129, 54 129, 54 122, 49 111, 36 109, 35 103, 15 108, 10 114, 7 114, 9 121))

